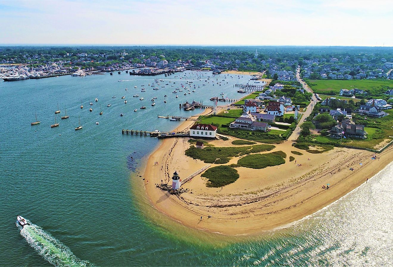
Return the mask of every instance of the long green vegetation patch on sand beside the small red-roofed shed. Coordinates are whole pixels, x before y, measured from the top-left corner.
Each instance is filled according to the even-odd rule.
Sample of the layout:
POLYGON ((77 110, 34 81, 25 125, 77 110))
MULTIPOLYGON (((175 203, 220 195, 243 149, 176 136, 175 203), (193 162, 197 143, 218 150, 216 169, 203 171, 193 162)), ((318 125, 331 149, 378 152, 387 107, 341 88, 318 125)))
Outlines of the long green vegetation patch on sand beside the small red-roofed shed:
POLYGON ((275 148, 271 144, 259 144, 255 146, 239 147, 205 147, 204 149, 191 146, 185 150, 185 155, 193 159, 200 159, 205 163, 224 164, 228 163, 231 157, 269 151, 275 148))

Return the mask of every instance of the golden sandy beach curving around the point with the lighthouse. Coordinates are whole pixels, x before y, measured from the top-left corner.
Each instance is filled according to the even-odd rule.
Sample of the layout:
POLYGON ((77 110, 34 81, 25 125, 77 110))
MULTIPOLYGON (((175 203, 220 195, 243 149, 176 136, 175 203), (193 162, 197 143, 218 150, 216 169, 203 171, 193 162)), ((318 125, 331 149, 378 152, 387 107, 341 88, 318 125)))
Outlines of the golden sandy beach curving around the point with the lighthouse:
MULTIPOLYGON (((205 110, 201 115, 210 112, 205 110)), ((192 125, 193 121, 185 121, 176 130, 185 130, 192 125)), ((209 143, 234 146, 231 141, 236 139, 231 137, 228 141, 209 143)), ((171 183, 175 170, 184 179, 207 165, 184 155, 191 145, 188 140, 165 139, 151 154, 143 174, 149 180, 145 185, 147 197, 154 208, 187 227, 230 235, 257 234, 304 218, 364 183, 393 158, 391 149, 378 154, 379 159, 375 160, 371 159, 372 152, 347 148, 310 154, 286 141, 276 144, 274 150, 264 152, 285 152, 287 156, 283 165, 264 169, 237 167, 240 178, 223 188, 206 187, 206 179, 199 174, 182 185, 189 188, 189 192, 171 195, 156 187, 161 179, 163 183, 171 183), (291 151, 303 155, 294 155, 291 151), (289 161, 291 155, 296 162, 289 161), (154 162, 159 164, 154 165, 154 162), (322 188, 326 184, 329 184, 328 190, 322 188)), ((232 158, 226 165, 237 163, 239 158, 232 158)))

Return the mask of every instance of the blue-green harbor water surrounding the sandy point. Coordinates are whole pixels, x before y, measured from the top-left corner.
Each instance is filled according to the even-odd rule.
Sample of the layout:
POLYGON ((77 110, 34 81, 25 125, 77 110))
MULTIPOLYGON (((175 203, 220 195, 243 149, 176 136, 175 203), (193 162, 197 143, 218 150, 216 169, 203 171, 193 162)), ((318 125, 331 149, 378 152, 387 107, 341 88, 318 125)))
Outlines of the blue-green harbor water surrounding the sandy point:
POLYGON ((145 200, 143 194, 136 194, 141 178, 135 170, 143 167, 159 141, 121 135, 121 128, 170 130, 179 123, 158 119, 157 113, 199 113, 186 113, 178 104, 183 100, 211 103, 209 97, 221 91, 239 97, 233 84, 248 80, 227 78, 228 84, 210 82, 202 87, 207 75, 212 76, 204 73, 201 82, 194 81, 201 86, 196 93, 179 92, 178 99, 171 91, 184 84, 184 78, 176 80, 175 87, 160 85, 157 91, 147 84, 163 76, 127 82, 117 80, 135 77, 122 73, 0 82, 0 266, 51 266, 15 227, 17 214, 42 227, 42 232, 38 229, 43 243, 55 240, 59 249, 65 247, 63 252, 96 266, 391 266, 393 165, 296 225, 258 237, 230 239, 186 229, 154 212, 144 215, 151 208, 138 204, 145 200), (140 91, 142 84, 145 93, 140 91), (133 98, 135 93, 145 100, 133 98), (167 104, 162 102, 165 94, 167 104), (128 104, 120 99, 122 95, 128 104), (154 107, 150 106, 153 96, 158 97, 154 107), (57 102, 59 115, 64 115, 66 105, 70 118, 58 117, 60 126, 50 128, 57 102), (94 103, 93 112, 88 111, 89 102, 94 103), (146 110, 139 109, 142 103, 146 110), (133 112, 135 108, 138 112, 133 112), (41 124, 30 126, 34 111, 41 124), (125 115, 119 117, 120 112, 125 115), (84 127, 75 131, 79 115, 84 127))

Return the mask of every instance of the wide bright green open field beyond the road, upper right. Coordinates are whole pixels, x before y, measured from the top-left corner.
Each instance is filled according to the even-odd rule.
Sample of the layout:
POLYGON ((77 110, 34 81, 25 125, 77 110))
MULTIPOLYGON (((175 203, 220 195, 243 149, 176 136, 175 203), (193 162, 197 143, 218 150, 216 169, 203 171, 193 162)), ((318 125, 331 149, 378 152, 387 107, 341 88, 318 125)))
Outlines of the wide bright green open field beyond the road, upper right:
POLYGON ((387 89, 393 89, 391 80, 307 80, 314 93, 334 91, 337 94, 341 89, 370 90, 372 95, 384 93, 387 89))

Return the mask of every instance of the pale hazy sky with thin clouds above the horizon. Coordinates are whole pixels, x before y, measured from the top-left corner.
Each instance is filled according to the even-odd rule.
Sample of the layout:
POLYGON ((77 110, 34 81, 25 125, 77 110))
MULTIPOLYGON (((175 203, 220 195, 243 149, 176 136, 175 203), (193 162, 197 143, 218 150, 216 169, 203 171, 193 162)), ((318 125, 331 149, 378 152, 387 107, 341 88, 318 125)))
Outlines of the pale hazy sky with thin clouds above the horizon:
POLYGON ((393 0, 0 0, 0 44, 393 46, 393 0))

